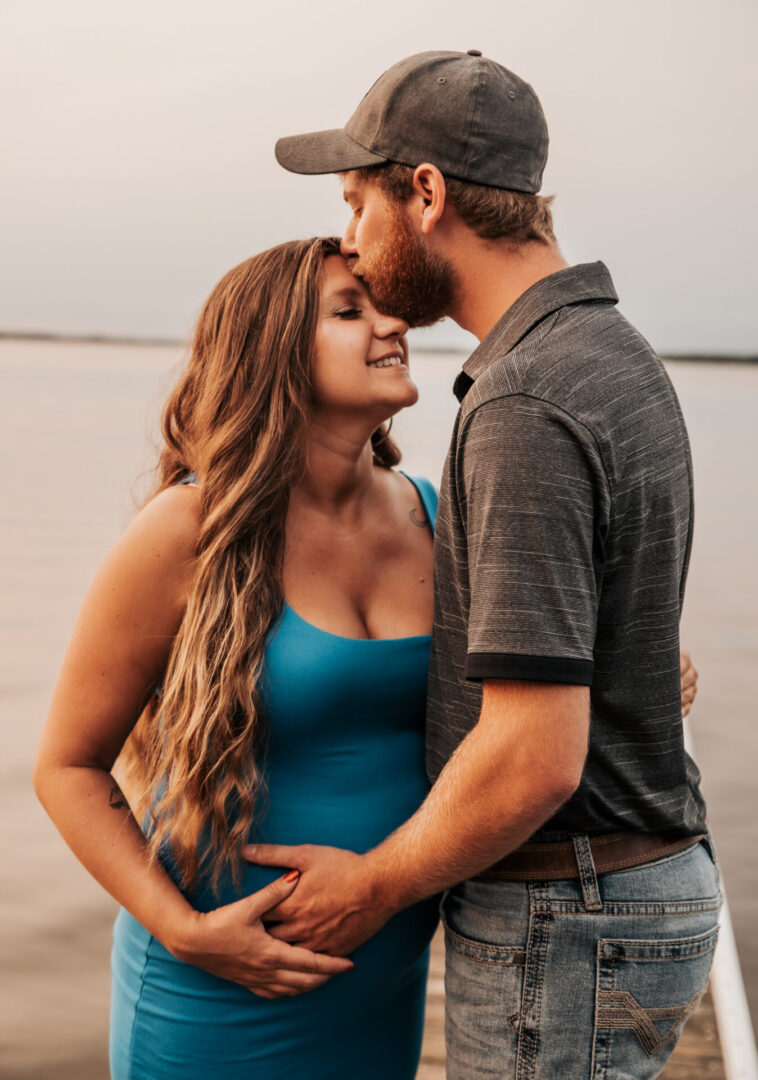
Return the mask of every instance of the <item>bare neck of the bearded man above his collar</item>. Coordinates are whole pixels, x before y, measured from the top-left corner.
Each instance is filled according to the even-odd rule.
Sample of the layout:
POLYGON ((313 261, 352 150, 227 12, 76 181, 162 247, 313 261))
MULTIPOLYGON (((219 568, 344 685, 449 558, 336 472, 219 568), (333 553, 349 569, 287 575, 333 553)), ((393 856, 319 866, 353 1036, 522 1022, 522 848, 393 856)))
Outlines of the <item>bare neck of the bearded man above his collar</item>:
POLYGON ((479 341, 523 293, 568 267, 557 244, 530 242, 512 248, 479 240, 469 230, 448 257, 459 282, 450 318, 479 341))

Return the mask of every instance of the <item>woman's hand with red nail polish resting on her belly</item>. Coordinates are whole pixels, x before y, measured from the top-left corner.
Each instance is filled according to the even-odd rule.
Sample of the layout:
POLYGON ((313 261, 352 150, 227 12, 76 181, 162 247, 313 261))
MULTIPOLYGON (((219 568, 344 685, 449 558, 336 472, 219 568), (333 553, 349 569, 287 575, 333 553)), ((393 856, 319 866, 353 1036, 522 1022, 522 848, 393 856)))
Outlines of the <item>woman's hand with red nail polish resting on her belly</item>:
POLYGON ((206 915, 193 913, 189 931, 171 951, 261 998, 306 994, 334 975, 352 971, 351 960, 311 953, 267 933, 263 916, 292 895, 298 877, 293 872, 233 904, 206 915))

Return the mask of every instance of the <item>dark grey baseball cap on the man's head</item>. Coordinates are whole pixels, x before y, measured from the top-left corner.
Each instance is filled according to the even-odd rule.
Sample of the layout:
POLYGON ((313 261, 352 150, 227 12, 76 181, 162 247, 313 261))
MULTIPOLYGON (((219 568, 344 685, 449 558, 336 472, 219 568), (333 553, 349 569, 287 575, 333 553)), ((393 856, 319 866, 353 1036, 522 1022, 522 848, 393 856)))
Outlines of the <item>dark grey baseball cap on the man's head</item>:
POLYGON ((384 71, 344 127, 276 143, 290 173, 428 161, 445 176, 536 193, 547 124, 531 86, 477 49, 417 53, 384 71))

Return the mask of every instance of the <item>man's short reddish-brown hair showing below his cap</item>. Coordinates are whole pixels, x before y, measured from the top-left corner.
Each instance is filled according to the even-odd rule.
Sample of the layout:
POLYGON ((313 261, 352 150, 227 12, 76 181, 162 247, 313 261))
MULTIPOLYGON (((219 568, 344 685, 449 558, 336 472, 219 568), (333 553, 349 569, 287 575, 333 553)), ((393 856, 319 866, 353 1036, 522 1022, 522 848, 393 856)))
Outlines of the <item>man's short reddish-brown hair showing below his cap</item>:
MULTIPOLYGON (((356 170, 358 176, 376 184, 387 195, 407 202, 414 193, 414 172, 410 165, 370 165, 356 170)), ((505 191, 445 177, 447 198, 459 217, 483 240, 505 240, 513 244, 538 241, 550 244, 553 233, 553 195, 532 195, 524 191, 505 191)))

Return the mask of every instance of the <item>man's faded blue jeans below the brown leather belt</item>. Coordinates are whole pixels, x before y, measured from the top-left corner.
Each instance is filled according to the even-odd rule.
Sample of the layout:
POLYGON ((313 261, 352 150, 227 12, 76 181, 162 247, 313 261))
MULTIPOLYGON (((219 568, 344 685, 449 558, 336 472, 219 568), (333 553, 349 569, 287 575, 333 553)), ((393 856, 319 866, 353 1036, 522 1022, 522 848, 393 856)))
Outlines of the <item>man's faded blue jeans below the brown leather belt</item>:
POLYGON ((708 842, 598 878, 464 881, 442 913, 448 1080, 653 1080, 710 970, 708 842))

